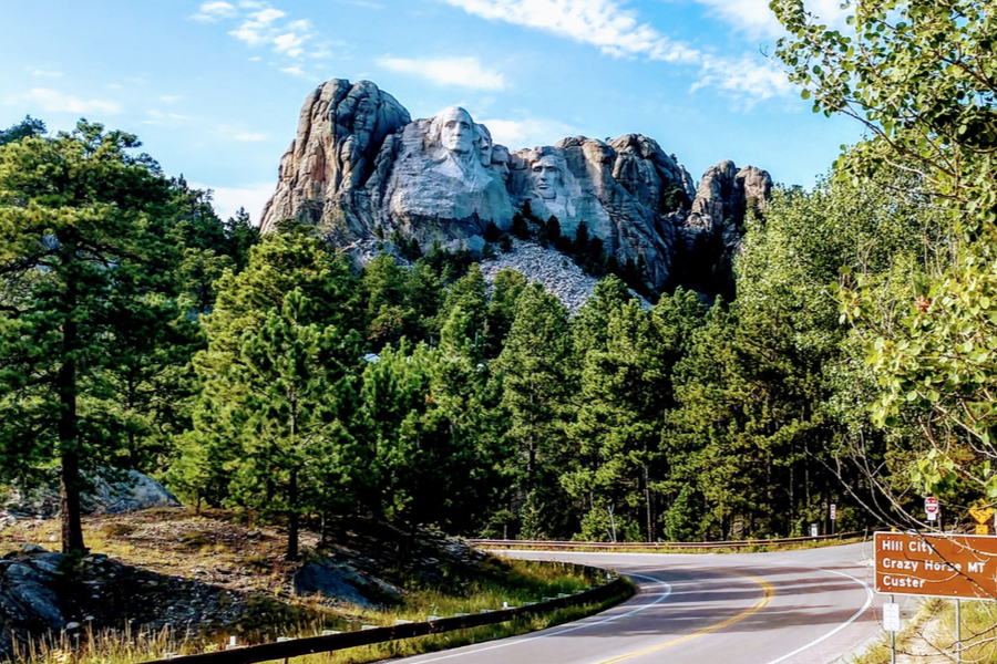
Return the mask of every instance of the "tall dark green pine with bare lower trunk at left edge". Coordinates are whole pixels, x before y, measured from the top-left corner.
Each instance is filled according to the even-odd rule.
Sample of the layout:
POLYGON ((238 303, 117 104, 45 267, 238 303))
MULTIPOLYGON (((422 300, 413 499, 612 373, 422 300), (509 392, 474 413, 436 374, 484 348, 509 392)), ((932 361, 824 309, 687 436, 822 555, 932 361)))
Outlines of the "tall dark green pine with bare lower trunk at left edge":
POLYGON ((80 122, 0 148, 0 473, 61 466, 62 548, 85 549, 84 471, 113 463, 100 407, 123 335, 176 318, 168 183, 138 141, 80 122))

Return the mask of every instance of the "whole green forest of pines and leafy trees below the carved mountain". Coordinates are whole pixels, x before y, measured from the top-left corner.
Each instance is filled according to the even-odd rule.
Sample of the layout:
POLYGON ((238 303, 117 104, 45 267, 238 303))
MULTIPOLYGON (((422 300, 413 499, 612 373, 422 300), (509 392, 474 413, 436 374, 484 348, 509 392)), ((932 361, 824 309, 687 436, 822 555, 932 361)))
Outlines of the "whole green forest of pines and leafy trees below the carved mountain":
POLYGON ((607 273, 577 315, 404 238, 405 264, 357 272, 294 220, 223 221, 134 136, 28 118, 0 134, 0 484, 61 477, 74 550, 86 478, 137 469, 196 508, 285 520, 289 558, 302 523, 343 515, 686 541, 828 531, 832 502, 850 530, 913 518, 926 492, 988 501, 983 4, 876 4, 850 37, 774 2, 804 98, 868 138, 749 210, 733 298, 678 289, 647 310, 616 276, 639 266, 528 210, 513 232, 607 273))

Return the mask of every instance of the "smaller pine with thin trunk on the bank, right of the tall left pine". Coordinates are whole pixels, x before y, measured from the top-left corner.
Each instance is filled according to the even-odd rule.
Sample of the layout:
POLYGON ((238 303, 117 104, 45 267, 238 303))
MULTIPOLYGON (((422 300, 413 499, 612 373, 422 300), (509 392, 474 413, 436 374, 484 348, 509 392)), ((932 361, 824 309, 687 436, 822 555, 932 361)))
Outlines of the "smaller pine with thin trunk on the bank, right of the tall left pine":
POLYGON ((348 505, 346 478, 367 461, 348 452, 359 334, 309 322, 310 307, 300 289, 288 293, 239 336, 239 360, 205 386, 209 398, 239 406, 226 427, 241 443, 236 499, 286 515, 287 560, 298 558, 300 516, 348 505))

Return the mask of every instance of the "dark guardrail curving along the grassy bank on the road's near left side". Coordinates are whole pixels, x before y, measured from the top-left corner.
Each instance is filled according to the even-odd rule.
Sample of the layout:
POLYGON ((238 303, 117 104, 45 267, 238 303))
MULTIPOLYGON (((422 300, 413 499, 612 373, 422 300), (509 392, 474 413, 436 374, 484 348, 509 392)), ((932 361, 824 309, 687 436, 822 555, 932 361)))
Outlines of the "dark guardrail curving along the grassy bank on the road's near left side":
MULTIPOLYGON (((584 566, 577 567, 578 569, 594 572, 596 574, 595 578, 606 578, 606 570, 597 570, 596 568, 584 566)), ((557 609, 602 602, 624 592, 625 589, 626 582, 624 579, 621 577, 616 577, 609 583, 596 585, 595 588, 590 588, 583 592, 548 600, 546 602, 538 602, 536 604, 516 606, 514 609, 497 609, 495 611, 489 611, 487 613, 458 615, 428 622, 413 622, 387 627, 366 629, 357 632, 330 634, 328 636, 310 636, 306 639, 279 641, 277 643, 264 643, 261 645, 237 646, 235 649, 214 653, 183 655, 168 660, 146 662, 144 664, 256 664, 257 662, 269 662, 274 660, 300 657, 304 655, 330 653, 348 647, 373 645, 377 643, 398 641, 400 639, 429 636, 431 634, 443 634, 456 630, 492 625, 524 615, 535 615, 537 613, 547 613, 557 609)))

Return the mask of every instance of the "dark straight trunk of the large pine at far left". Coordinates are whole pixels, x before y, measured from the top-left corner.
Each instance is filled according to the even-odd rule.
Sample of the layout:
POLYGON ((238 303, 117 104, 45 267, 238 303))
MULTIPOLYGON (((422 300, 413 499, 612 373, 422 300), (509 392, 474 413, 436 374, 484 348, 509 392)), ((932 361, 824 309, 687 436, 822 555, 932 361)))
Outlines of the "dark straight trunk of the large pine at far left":
MULTIPOLYGON (((70 242, 65 247, 66 262, 75 261, 75 243, 70 242)), ((59 370, 59 454, 62 460, 62 552, 85 553, 83 543, 83 522, 80 510, 80 494, 82 479, 80 478, 80 452, 78 449, 76 426, 76 347, 79 345, 79 330, 76 322, 72 320, 76 308, 75 273, 69 274, 69 284, 65 292, 66 320, 62 326, 62 367, 59 370)))

